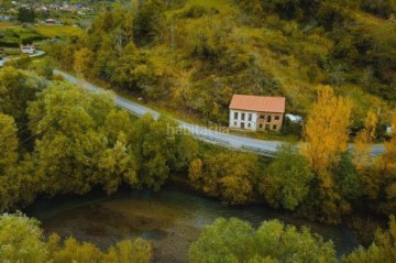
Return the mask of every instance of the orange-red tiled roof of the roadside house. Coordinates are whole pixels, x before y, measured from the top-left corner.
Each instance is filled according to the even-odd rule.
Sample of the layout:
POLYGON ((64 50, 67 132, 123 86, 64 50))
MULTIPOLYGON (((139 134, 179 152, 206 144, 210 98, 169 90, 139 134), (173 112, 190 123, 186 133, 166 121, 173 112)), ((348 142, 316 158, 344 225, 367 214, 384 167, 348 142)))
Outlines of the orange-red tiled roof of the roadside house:
POLYGON ((285 113, 286 98, 252 95, 234 95, 230 109, 258 112, 285 113))

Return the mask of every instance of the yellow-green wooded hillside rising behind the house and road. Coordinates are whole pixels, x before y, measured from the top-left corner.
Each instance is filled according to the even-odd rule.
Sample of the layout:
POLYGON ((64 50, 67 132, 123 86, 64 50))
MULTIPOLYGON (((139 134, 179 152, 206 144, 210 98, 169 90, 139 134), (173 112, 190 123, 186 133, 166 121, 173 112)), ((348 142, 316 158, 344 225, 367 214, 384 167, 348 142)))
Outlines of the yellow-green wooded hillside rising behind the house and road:
POLYGON ((233 94, 286 96, 288 111, 306 114, 322 85, 354 101, 356 129, 370 109, 387 122, 395 1, 164 2, 100 12, 85 36, 52 54, 66 69, 202 122, 227 124, 233 94))

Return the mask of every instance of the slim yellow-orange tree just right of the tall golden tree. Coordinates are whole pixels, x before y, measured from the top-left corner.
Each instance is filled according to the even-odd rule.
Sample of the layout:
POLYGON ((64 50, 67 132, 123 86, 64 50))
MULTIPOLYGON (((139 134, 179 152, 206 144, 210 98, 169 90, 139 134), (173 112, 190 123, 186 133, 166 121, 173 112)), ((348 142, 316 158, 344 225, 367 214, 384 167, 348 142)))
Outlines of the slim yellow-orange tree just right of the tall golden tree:
POLYGON ((373 111, 369 111, 364 121, 364 129, 358 133, 354 140, 353 162, 358 171, 363 169, 370 163, 371 144, 375 140, 375 129, 378 118, 373 111))

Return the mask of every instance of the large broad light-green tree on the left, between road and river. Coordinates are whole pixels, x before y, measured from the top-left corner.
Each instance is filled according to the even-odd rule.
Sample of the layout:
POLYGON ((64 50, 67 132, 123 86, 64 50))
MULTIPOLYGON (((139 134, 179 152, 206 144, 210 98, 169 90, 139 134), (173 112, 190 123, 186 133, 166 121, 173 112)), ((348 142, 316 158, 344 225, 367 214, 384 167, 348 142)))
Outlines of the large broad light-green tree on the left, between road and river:
POLYGON ((122 182, 136 184, 131 122, 112 96, 55 83, 28 111, 36 136, 36 176, 47 191, 85 194, 99 184, 110 194, 122 182))

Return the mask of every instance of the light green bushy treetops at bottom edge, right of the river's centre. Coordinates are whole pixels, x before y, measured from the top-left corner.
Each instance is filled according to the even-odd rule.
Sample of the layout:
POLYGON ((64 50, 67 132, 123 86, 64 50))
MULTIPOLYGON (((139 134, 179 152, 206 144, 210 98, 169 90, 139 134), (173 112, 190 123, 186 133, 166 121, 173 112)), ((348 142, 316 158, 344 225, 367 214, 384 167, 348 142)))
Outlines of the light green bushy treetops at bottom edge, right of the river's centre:
POLYGON ((332 242, 277 220, 254 230, 240 219, 217 219, 189 249, 190 262, 337 262, 332 242))

